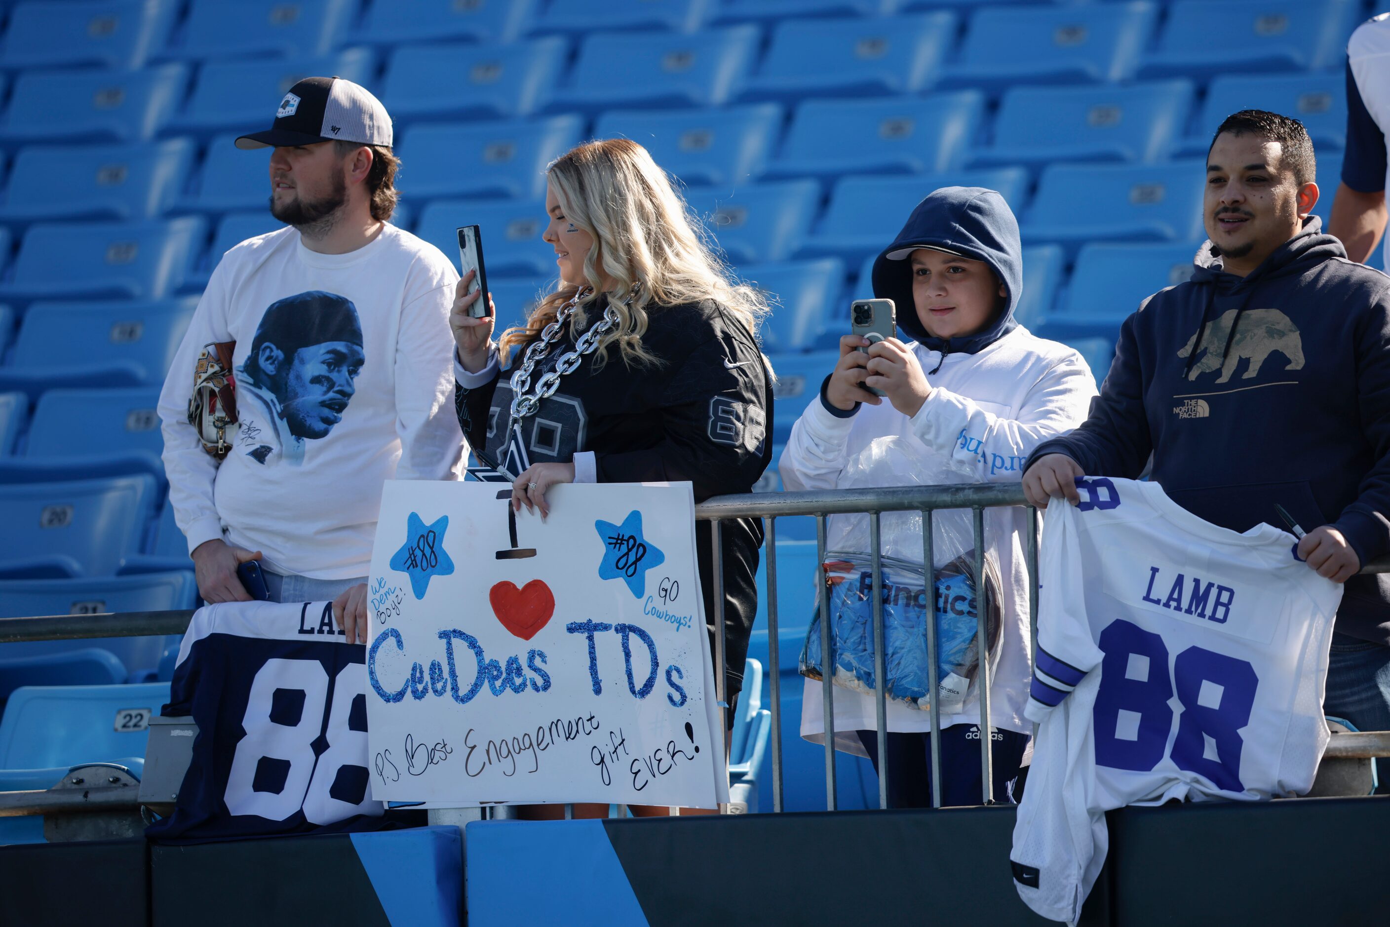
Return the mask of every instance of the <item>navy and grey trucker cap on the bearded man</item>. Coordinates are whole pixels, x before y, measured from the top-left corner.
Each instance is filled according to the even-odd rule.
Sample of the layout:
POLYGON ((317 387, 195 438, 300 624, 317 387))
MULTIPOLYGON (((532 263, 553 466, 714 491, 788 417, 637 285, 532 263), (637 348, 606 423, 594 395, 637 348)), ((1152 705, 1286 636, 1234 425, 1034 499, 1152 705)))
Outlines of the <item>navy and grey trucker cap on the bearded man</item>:
POLYGON ((265 132, 236 139, 239 149, 356 142, 391 147, 391 117, 366 88, 342 78, 304 78, 289 89, 265 132))

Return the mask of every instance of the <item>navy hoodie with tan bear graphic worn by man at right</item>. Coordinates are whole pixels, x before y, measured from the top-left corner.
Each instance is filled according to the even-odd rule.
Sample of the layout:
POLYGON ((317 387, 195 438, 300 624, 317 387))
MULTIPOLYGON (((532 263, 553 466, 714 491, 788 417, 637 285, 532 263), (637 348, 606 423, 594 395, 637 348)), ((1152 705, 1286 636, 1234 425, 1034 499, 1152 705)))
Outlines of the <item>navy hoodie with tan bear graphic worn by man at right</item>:
MULTIPOLYGON (((1152 479, 1212 524, 1330 524, 1361 563, 1390 552, 1390 277, 1322 221, 1248 277, 1205 242, 1186 284, 1125 320, 1091 414, 1033 452, 1088 475, 1152 479)), ((1390 575, 1346 585, 1337 631, 1390 643, 1390 575)))

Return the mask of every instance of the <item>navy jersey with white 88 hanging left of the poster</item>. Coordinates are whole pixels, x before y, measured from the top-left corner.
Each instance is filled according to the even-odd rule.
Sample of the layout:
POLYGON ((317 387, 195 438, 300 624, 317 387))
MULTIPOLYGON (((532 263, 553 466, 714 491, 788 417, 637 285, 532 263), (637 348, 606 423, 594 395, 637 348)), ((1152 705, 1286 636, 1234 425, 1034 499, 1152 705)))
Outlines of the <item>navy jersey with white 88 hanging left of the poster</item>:
POLYGON ((199 734, 158 839, 309 832, 379 816, 367 771, 366 648, 343 641, 328 602, 199 609, 170 703, 199 734))

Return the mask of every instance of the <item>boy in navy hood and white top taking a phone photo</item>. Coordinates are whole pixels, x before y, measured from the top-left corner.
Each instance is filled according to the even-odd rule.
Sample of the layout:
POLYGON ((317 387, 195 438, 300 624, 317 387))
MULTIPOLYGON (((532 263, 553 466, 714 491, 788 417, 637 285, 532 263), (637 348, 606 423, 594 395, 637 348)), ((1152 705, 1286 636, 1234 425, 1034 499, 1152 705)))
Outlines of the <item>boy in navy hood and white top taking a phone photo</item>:
MULTIPOLYGON (((912 211, 873 265, 903 339, 840 339, 840 361, 792 428, 780 471, 787 489, 833 489, 877 438, 902 436, 929 473, 959 482, 1013 482, 1042 441, 1086 420, 1095 381, 1070 347, 1013 318, 1022 293, 1019 225, 1004 197, 981 188, 935 190, 912 211), (859 350, 867 347, 867 353, 859 350), (884 392, 883 397, 865 389, 884 392)), ((986 511, 986 549, 999 567, 1002 643, 990 688, 995 801, 1008 799, 1027 745, 1027 573, 1023 509, 986 511)), ((820 682, 808 681, 802 737, 824 742, 820 682)), ((835 746, 876 767, 874 698, 834 692, 835 746)), ((944 805, 981 799, 979 706, 941 714, 944 805)), ((888 702, 888 803, 930 807, 930 712, 888 702)))

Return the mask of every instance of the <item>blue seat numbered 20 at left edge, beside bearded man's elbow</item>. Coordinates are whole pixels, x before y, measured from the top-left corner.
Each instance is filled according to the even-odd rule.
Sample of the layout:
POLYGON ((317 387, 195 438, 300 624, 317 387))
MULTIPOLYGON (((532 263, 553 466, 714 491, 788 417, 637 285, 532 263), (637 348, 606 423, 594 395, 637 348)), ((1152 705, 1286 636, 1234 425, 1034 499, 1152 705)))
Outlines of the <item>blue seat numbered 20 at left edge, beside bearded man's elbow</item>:
POLYGON ((0 485, 0 573, 8 578, 113 575, 140 552, 154 477, 0 485))

